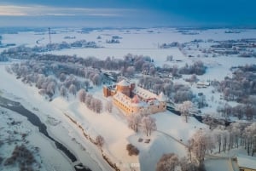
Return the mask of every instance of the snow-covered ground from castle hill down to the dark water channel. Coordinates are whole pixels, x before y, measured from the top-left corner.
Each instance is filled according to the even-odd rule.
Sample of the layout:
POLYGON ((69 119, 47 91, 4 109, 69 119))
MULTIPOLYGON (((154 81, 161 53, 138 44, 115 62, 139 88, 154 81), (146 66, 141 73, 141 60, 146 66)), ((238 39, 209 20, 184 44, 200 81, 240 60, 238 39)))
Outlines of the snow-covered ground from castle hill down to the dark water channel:
MULTIPOLYGON (((165 113, 154 116, 157 119, 157 126, 160 132, 155 132, 149 137, 144 134, 135 134, 127 127, 126 120, 122 119, 122 113, 116 112, 115 114, 109 114, 103 112, 96 114, 87 109, 85 105, 81 105, 79 100, 73 98, 71 98, 73 100, 69 101, 56 98, 49 103, 49 101, 44 100, 38 94, 36 88, 29 87, 21 83, 20 80, 16 80, 15 76, 9 75, 5 71, 4 65, 0 66, 0 71, 3 73, 1 78, 4 80, 0 85, 3 96, 20 101, 21 104, 25 105, 31 111, 32 108, 38 108, 38 111, 34 112, 47 124, 49 133, 57 140, 60 140, 61 143, 67 145, 68 148, 72 149, 80 161, 92 170, 111 170, 111 168, 109 168, 105 161, 102 161, 100 150, 84 138, 79 128, 71 123, 65 117, 64 113, 79 121, 86 133, 90 134, 92 138, 101 134, 106 140, 106 144, 103 146, 104 152, 114 162, 118 163, 118 166, 122 170, 130 170, 132 168, 131 166, 136 169, 141 168, 141 170, 154 170, 156 162, 166 152, 177 152, 180 157, 185 156, 186 150, 184 145, 174 140, 171 136, 174 136, 177 140, 186 140, 196 130, 195 125, 198 125, 193 118, 191 118, 192 122, 183 123, 182 117, 177 117, 166 111, 165 113), (55 118, 55 123, 58 124, 54 124, 54 126, 50 124, 52 117, 55 118), (166 119, 167 123, 162 124, 163 120, 166 119), (181 127, 181 124, 184 127, 181 127), (186 128, 191 128, 192 130, 186 132, 186 128), (139 138, 143 138, 144 140, 150 139, 151 142, 149 144, 144 142, 139 143, 139 138), (130 157, 128 155, 125 146, 129 142, 137 145, 140 150, 139 157, 130 157)), ((41 155, 44 157, 45 154, 41 155)), ((61 159, 59 161, 61 162, 61 159)), ((52 165, 55 165, 54 161, 51 162, 52 165)))

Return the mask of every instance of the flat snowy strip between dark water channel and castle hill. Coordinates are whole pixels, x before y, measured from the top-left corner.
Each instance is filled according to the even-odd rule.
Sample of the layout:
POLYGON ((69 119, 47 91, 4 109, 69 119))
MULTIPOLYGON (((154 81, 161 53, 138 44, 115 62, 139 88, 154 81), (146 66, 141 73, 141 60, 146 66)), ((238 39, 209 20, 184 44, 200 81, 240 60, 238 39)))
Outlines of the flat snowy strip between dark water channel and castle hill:
MULTIPOLYGON (((21 83, 20 80, 16 80, 15 76, 7 74, 4 66, 0 65, 0 71, 3 73, 1 77, 4 80, 0 84, 3 97, 19 102, 28 111, 36 114, 42 123, 47 126, 49 135, 61 142, 62 145, 67 146, 67 149, 70 149, 84 166, 91 170, 112 170, 102 158, 101 151, 95 145, 91 145, 89 140, 84 140, 81 133, 73 127, 73 123, 63 116, 62 111, 51 105, 49 101, 44 100, 44 97, 38 94, 36 88, 29 87, 21 83)), ((55 164, 55 160, 49 162, 55 164)))

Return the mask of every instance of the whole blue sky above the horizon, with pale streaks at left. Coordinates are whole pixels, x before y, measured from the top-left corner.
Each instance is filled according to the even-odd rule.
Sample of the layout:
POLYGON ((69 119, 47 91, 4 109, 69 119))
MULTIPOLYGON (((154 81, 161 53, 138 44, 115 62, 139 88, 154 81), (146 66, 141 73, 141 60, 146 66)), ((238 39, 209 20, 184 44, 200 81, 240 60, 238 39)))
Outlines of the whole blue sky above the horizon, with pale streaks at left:
POLYGON ((0 0, 0 26, 256 26, 255 0, 0 0))

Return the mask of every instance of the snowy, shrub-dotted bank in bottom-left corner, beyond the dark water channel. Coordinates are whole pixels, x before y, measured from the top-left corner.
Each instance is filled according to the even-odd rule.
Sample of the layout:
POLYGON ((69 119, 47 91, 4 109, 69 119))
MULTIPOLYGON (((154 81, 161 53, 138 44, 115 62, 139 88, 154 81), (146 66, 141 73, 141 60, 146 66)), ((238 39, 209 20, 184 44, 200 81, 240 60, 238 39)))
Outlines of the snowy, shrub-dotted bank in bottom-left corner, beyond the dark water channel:
POLYGON ((74 170, 69 159, 55 148, 54 143, 40 134, 38 128, 34 127, 26 117, 0 106, 0 125, 0 158, 2 158, 0 170, 20 170, 17 161, 14 164, 5 163, 19 145, 25 145, 26 149, 31 151, 35 161, 29 167, 33 170, 74 170))

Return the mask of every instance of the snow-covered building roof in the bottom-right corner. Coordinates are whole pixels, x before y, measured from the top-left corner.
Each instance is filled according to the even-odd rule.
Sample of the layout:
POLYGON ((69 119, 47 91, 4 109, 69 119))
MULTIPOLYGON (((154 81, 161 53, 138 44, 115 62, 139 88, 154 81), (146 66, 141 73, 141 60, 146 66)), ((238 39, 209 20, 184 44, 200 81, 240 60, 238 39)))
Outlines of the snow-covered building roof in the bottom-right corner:
POLYGON ((256 157, 250 156, 237 156, 237 164, 241 168, 251 168, 256 170, 256 157))

